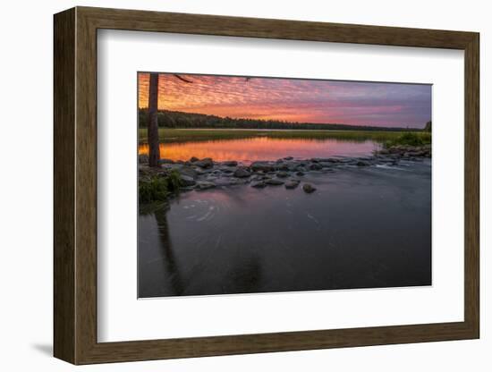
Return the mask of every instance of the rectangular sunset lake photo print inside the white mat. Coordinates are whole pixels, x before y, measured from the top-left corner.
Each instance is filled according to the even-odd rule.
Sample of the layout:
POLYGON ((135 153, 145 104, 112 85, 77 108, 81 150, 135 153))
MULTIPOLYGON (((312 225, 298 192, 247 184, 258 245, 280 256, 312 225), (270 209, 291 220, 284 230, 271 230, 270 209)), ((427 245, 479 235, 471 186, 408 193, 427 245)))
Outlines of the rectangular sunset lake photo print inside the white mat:
POLYGON ((431 84, 137 78, 139 298, 432 284, 431 84))

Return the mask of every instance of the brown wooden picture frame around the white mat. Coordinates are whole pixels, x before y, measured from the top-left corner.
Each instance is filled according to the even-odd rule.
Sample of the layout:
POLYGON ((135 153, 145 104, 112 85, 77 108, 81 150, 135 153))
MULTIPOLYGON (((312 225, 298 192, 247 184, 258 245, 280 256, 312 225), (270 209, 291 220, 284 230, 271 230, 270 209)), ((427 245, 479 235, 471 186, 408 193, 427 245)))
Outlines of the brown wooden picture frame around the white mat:
POLYGON ((55 14, 54 354, 73 364, 479 338, 479 34, 76 7, 55 14), (464 321, 131 342, 97 339, 97 32, 464 50, 464 321))

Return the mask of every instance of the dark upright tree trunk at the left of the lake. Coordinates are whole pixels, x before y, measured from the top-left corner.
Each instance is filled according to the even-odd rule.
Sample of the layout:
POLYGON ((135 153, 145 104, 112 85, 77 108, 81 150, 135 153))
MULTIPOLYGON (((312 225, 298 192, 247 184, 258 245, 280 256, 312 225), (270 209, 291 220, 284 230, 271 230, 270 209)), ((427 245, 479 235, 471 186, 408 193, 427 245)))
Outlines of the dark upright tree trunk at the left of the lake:
POLYGON ((157 126, 157 103, 159 96, 159 74, 151 73, 148 82, 148 165, 159 166, 159 130, 157 126))

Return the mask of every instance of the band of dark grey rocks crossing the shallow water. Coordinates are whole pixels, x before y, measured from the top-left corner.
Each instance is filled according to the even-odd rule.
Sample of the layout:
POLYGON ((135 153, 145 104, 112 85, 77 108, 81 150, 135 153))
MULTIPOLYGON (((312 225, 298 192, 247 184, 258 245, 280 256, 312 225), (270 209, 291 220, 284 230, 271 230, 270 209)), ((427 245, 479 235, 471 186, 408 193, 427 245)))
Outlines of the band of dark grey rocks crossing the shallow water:
POLYGON ((302 182, 306 173, 333 173, 342 168, 358 168, 375 165, 394 166, 401 162, 421 162, 431 157, 430 145, 420 147, 394 146, 383 148, 373 156, 358 157, 315 157, 298 159, 285 156, 276 161, 255 161, 250 165, 230 160, 216 162, 206 157, 191 157, 188 161, 161 159, 160 167, 148 166, 148 156, 139 156, 140 182, 152 177, 166 177, 169 173, 179 173, 180 190, 208 190, 216 187, 250 184, 250 187, 284 186, 293 190, 301 185, 306 193, 312 193, 316 186, 302 182))

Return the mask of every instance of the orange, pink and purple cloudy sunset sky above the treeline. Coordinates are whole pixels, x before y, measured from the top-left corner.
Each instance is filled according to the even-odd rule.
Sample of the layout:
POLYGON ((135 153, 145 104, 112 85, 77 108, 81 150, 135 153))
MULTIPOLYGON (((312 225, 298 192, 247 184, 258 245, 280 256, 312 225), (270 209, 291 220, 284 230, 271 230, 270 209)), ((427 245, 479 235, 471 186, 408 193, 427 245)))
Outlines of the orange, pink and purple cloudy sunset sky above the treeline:
MULTIPOLYGON (((139 73, 139 106, 148 106, 148 73, 139 73)), ((159 109, 233 118, 423 128, 431 86, 180 74, 159 76, 159 109)))

